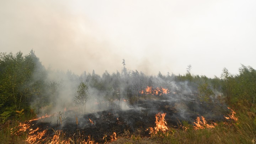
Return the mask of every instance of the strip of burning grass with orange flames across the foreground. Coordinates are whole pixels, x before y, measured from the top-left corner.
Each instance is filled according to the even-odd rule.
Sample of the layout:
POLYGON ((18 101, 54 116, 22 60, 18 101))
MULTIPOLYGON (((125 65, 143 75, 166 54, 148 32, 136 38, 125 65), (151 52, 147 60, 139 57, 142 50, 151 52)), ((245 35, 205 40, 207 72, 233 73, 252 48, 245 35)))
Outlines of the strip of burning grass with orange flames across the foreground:
MULTIPOLYGON (((96 114, 86 114, 81 118, 74 117, 58 129, 57 124, 49 124, 44 120, 53 116, 44 116, 19 123, 10 130, 10 134, 1 143, 10 143, 10 137, 15 137, 11 143, 50 143, 50 144, 92 144, 92 143, 254 143, 255 141, 255 108, 244 108, 225 114, 223 119, 207 120, 202 116, 193 116, 193 122, 186 119, 173 121, 177 115, 175 103, 152 101, 154 107, 146 108, 149 101, 138 103, 142 110, 102 111, 96 114), (162 106, 164 105, 164 106, 162 106), (162 106, 162 107, 161 107, 162 106), (150 112, 151 108, 163 111, 150 112), (165 111, 164 111, 165 109, 165 111), (143 118, 144 116, 144 118, 143 118), (176 123, 176 124, 175 124, 176 123), (178 124, 179 123, 179 124, 178 124), (228 123, 228 124, 226 124, 228 123), (149 128, 146 130, 145 128, 149 128), (149 134, 151 133, 151 134, 149 134), (20 138, 17 140, 17 138, 20 138), (17 142, 19 141, 19 142, 17 142)), ((188 106, 189 107, 189 106, 188 106)), ((66 111, 68 113, 70 111, 66 111)), ((191 113, 190 113, 191 114, 191 113)), ((68 115, 68 114, 66 114, 68 115)), ((65 122, 63 122, 65 123, 65 122)), ((1 133, 3 135, 3 130, 1 133)), ((3 137, 3 136, 2 136, 3 137)))

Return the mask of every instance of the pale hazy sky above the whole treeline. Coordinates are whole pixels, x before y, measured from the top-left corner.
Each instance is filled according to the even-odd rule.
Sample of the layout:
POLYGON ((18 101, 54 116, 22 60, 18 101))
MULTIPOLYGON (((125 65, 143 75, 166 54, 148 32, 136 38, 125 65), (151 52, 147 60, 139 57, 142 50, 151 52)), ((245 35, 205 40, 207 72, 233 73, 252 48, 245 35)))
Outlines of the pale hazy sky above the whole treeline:
POLYGON ((52 69, 220 76, 256 69, 255 0, 1 0, 0 51, 52 69))

